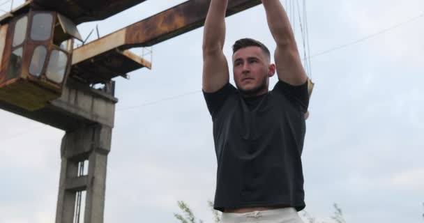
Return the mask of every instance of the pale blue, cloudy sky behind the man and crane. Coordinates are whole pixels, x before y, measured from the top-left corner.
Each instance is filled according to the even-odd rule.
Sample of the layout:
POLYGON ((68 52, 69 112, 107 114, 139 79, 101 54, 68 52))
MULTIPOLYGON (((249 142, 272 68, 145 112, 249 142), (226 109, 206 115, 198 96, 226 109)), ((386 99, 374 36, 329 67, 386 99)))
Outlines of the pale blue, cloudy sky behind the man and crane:
MULTIPOLYGON (((146 1, 78 29, 86 37, 98 25, 105 36, 181 2, 146 1)), ((424 222, 424 17, 407 22, 423 15, 424 1, 306 6, 315 89, 302 155, 305 211, 331 222, 338 203, 349 223, 424 222), (356 40, 363 41, 319 54, 356 40)), ((226 24, 227 58, 239 38, 275 48, 263 6, 226 24)), ((155 45, 152 70, 116 78, 105 223, 177 222, 179 200, 213 222, 207 201, 216 158, 201 93, 202 31, 155 45)), ((0 223, 54 222, 64 132, 5 111, 0 123, 0 223)))

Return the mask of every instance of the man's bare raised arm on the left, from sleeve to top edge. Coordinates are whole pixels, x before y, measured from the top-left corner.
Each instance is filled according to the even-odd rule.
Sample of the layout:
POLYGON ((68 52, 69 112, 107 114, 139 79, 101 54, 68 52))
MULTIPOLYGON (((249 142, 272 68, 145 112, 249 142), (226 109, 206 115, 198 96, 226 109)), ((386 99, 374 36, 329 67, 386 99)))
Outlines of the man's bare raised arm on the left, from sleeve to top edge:
POLYGON ((228 0, 212 0, 203 33, 203 91, 221 89, 229 82, 228 62, 222 52, 225 42, 225 11, 228 0))

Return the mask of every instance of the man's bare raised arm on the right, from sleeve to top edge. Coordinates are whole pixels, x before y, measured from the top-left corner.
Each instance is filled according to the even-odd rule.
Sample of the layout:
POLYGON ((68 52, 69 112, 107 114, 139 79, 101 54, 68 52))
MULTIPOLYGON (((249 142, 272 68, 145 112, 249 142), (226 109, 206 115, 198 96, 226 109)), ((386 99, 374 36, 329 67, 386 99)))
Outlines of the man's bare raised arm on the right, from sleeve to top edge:
POLYGON ((262 0, 266 19, 277 49, 275 49, 275 66, 278 78, 292 85, 305 84, 306 72, 303 69, 296 40, 289 17, 280 0, 262 0))

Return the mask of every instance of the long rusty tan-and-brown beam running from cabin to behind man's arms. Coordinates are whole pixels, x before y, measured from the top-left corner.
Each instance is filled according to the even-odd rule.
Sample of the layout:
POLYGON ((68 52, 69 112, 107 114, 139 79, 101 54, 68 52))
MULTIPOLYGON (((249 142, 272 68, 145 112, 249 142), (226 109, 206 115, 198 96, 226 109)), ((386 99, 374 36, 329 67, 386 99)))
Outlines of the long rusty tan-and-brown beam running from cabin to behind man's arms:
MULTIPOLYGON (((211 0, 191 0, 115 31, 75 49, 73 64, 116 48, 146 47, 204 25, 211 0)), ((227 16, 261 3, 261 0, 229 0, 227 16)))

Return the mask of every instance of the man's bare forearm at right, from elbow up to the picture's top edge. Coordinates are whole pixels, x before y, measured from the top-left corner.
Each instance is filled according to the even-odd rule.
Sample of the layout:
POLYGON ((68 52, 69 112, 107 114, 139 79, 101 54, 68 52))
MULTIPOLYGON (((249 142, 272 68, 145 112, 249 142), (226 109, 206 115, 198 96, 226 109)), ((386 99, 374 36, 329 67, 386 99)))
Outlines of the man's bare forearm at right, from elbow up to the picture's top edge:
POLYGON ((296 46, 294 33, 280 0, 262 0, 271 34, 278 47, 296 46))

